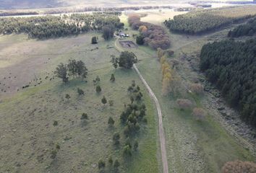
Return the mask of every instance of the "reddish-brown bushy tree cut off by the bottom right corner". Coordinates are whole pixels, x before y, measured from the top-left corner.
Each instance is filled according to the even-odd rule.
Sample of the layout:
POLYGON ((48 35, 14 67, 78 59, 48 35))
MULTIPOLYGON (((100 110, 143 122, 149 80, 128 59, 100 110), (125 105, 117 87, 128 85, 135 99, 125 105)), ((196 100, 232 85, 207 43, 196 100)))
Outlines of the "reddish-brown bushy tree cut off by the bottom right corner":
POLYGON ((229 161, 221 169, 222 173, 255 173, 256 164, 250 161, 229 161))

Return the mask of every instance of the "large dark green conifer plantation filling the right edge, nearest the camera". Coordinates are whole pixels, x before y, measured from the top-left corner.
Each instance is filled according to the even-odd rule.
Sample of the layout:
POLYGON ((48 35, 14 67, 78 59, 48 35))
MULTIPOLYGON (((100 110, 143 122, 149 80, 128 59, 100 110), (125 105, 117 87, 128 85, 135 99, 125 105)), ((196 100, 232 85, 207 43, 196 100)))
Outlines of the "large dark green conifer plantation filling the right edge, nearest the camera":
POLYGON ((200 69, 216 84, 242 119, 256 127, 256 39, 208 43, 200 54, 200 69))

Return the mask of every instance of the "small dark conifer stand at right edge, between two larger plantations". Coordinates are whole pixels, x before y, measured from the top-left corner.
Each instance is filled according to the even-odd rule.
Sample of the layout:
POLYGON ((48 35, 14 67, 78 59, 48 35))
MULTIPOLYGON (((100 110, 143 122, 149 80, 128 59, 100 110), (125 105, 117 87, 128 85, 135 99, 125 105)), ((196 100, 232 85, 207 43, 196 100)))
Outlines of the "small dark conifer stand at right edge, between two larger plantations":
POLYGON ((229 37, 252 36, 256 33, 256 17, 249 19, 247 24, 239 25, 234 30, 230 30, 229 37))

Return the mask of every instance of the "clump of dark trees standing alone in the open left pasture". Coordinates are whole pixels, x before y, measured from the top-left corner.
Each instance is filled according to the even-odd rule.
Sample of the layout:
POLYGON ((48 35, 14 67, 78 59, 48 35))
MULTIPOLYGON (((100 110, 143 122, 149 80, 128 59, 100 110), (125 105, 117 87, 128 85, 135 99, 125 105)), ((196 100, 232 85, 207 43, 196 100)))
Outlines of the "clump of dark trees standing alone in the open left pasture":
POLYGON ((69 77, 85 79, 88 74, 88 69, 82 61, 69 60, 69 63, 60 63, 56 67, 54 74, 62 79, 63 82, 69 81, 69 77))

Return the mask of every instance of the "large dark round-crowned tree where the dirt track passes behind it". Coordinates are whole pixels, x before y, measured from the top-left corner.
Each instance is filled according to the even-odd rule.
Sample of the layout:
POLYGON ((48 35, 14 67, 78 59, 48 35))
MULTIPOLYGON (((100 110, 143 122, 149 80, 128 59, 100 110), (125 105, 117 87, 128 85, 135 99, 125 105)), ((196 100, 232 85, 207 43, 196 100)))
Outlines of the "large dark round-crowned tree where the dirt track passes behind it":
POLYGON ((132 68, 133 64, 137 63, 137 56, 135 53, 124 51, 119 56, 119 67, 121 68, 132 68))

